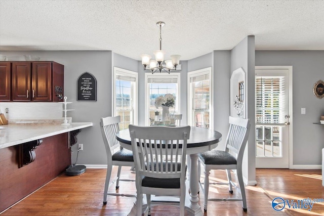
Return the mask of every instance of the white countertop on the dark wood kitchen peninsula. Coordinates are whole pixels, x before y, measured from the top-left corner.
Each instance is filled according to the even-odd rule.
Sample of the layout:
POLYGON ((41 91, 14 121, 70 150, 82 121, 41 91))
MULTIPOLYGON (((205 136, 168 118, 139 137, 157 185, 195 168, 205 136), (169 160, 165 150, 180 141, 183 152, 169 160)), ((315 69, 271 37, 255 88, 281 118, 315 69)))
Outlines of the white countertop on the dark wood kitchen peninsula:
POLYGON ((76 129, 92 125, 92 122, 75 122, 68 126, 47 123, 0 125, 0 149, 75 131, 76 129))

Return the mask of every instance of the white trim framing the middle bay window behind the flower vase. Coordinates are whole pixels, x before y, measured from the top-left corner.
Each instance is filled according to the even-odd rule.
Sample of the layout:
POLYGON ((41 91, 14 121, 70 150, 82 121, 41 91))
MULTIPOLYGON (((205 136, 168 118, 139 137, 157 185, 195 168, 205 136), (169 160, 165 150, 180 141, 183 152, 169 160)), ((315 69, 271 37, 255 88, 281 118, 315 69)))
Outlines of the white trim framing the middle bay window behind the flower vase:
POLYGON ((180 111, 180 79, 181 79, 181 74, 180 72, 172 72, 170 74, 166 74, 166 73, 154 73, 154 74, 151 74, 151 73, 145 73, 145 91, 144 91, 144 94, 145 94, 145 100, 144 100, 144 120, 145 120, 145 125, 149 125, 149 119, 148 119, 148 101, 149 101, 149 96, 148 96, 148 77, 149 76, 156 76, 156 77, 160 77, 160 78, 163 78, 163 77, 166 77, 168 78, 168 76, 172 76, 172 75, 176 75, 177 76, 177 83, 178 83, 178 87, 177 87, 177 98, 176 98, 176 104, 175 104, 175 111, 176 112, 179 112, 180 111))

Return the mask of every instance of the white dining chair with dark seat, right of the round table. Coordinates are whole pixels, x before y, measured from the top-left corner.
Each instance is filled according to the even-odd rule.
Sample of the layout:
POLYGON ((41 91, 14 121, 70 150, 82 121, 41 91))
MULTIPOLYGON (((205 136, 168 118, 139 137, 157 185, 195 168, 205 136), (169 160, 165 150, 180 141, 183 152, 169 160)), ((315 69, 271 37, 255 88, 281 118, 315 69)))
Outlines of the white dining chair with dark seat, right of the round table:
MULTIPOLYGON (((207 211, 208 201, 242 201, 243 210, 247 211, 247 200, 242 176, 242 159, 250 133, 250 119, 239 117, 229 117, 229 131, 227 134, 225 150, 211 150, 198 154, 199 161, 205 169, 204 186, 200 182, 200 187, 204 192, 204 210, 207 211), (226 169, 228 183, 209 182, 211 169, 226 169), (233 193, 233 187, 236 187, 231 179, 231 169, 236 169, 236 176, 239 183, 241 198, 217 198, 208 199, 209 185, 228 184, 229 192, 233 193)), ((200 176, 200 167, 198 167, 200 176)))

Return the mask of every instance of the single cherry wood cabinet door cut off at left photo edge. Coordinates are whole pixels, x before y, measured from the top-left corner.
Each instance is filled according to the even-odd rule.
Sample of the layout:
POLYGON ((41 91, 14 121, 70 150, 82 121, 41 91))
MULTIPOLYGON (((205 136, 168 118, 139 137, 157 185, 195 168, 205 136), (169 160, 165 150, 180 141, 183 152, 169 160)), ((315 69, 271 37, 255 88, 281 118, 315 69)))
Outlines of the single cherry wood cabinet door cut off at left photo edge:
POLYGON ((0 101, 11 100, 11 64, 0 62, 0 101))

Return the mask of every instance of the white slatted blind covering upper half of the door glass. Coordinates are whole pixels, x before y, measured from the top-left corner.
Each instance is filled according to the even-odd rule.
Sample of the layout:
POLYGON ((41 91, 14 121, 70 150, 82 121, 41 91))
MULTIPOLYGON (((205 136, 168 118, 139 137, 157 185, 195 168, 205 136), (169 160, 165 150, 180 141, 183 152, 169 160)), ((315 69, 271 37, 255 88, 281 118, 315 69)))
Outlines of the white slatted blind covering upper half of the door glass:
POLYGON ((256 123, 285 122, 285 77, 256 76, 256 123))

